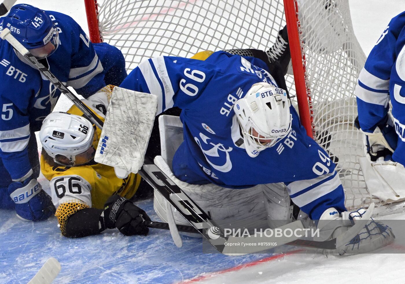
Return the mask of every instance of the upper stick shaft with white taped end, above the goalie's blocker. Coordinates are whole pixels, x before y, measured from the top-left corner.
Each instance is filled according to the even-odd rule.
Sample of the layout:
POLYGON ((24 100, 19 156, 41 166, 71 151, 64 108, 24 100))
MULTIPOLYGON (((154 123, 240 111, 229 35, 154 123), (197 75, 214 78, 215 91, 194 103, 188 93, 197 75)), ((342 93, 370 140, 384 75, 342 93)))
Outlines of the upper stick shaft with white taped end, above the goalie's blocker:
POLYGON ((51 83, 53 83, 53 85, 55 85, 58 90, 65 94, 68 99, 71 100, 89 118, 92 123, 96 124, 98 128, 102 129, 103 122, 85 104, 83 104, 83 102, 81 102, 79 98, 75 96, 75 94, 70 92, 70 90, 66 88, 64 83, 59 81, 58 78, 56 78, 55 75, 53 75, 48 68, 41 64, 38 59, 36 59, 35 56, 33 56, 30 51, 28 51, 28 49, 23 47, 23 45, 19 43, 19 41, 17 41, 17 39, 15 39, 15 37, 11 34, 8 28, 5 28, 1 32, 0 38, 8 41, 19 53, 21 53, 24 58, 26 58, 32 65, 34 65, 34 67, 38 69, 42 75, 44 75, 49 81, 51 81, 51 83))

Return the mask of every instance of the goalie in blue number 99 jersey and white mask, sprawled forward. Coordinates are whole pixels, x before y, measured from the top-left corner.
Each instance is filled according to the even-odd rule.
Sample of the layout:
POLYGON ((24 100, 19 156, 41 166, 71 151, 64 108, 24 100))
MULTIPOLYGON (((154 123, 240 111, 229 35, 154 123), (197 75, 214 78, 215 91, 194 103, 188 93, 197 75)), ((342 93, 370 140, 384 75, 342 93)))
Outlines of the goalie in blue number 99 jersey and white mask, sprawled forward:
MULTIPOLYGON (((184 141, 173 157, 174 175, 170 170, 166 173, 185 190, 189 188, 185 192, 190 197, 198 196, 212 218, 224 218, 203 204, 204 195, 213 188, 220 188, 211 196, 213 207, 228 214, 235 204, 222 202, 243 200, 252 204, 245 213, 259 216, 262 200, 252 200, 261 192, 254 197, 254 186, 270 184, 271 192, 279 192, 277 201, 282 199, 286 205, 279 220, 292 215, 286 209, 291 200, 311 219, 322 220, 318 227, 328 237, 336 237, 342 228, 331 230, 329 220, 352 218, 344 205, 343 187, 328 153, 306 135, 284 75, 283 66, 264 51, 229 50, 217 51, 205 61, 172 56, 149 59, 132 70, 120 87, 157 95, 158 113, 173 106, 182 110, 184 141), (286 185, 286 194, 279 183, 286 185)), ((156 195, 155 199, 160 198, 156 195)), ((271 208, 281 204, 270 203, 269 215, 274 214, 271 208)), ((237 210, 243 206, 239 204, 237 210)), ((164 204, 158 202, 155 210, 164 210, 164 204)), ((351 216, 356 220, 364 212, 360 209, 351 216)), ((158 215, 165 219, 164 214, 158 215)), ((386 226, 376 227, 374 237, 359 238, 364 243, 373 238, 372 249, 393 239, 386 226)))

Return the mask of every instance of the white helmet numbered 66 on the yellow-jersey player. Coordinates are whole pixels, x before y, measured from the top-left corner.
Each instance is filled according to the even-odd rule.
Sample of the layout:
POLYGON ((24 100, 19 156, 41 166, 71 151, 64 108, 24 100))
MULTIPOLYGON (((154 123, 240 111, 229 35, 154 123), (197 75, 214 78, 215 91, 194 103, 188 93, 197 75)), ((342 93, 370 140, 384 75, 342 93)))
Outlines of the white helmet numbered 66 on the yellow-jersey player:
POLYGON ((86 152, 93 143, 92 123, 79 115, 64 112, 50 113, 41 126, 39 139, 43 149, 55 162, 57 155, 69 159, 75 165, 75 156, 86 152))

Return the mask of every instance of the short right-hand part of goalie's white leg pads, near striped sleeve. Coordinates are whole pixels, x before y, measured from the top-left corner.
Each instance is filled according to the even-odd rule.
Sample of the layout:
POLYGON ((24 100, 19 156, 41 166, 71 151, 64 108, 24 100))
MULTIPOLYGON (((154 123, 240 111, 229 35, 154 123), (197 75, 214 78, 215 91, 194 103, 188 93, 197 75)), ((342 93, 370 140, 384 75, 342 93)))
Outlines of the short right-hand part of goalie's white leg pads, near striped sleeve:
POLYGON ((267 224, 274 229, 292 221, 290 196, 283 183, 263 184, 264 207, 267 213, 267 224))

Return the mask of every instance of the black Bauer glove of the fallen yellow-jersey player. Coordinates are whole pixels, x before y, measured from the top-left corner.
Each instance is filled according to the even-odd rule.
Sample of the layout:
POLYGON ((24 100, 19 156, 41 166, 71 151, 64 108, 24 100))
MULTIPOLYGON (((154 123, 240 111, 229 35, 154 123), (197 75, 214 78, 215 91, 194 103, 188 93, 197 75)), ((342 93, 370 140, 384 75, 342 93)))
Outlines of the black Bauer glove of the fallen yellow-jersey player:
POLYGON ((114 194, 104 205, 104 226, 109 229, 117 228, 123 235, 147 235, 149 228, 144 220, 150 221, 149 216, 128 199, 114 194))

